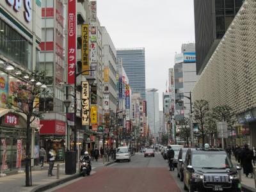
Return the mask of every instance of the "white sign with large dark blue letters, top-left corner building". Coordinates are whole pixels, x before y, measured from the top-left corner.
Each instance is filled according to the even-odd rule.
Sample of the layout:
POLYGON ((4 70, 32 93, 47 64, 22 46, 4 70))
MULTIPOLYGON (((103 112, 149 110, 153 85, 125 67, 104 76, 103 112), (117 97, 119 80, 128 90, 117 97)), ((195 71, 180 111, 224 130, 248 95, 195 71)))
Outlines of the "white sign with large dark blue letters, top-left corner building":
POLYGON ((32 3, 31 0, 5 0, 5 2, 12 6, 13 10, 17 12, 22 12, 21 8, 24 7, 23 16, 26 22, 30 22, 32 19, 32 3), (22 3, 23 2, 23 3, 22 3))

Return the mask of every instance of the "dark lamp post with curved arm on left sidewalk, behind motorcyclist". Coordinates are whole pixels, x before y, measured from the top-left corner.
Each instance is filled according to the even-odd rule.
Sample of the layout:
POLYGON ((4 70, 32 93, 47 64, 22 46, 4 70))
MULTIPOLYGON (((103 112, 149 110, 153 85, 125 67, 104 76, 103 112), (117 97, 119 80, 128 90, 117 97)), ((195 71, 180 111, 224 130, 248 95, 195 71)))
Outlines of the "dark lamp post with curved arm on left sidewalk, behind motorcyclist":
MULTIPOLYGON (((72 96, 74 97, 74 151, 76 152, 77 151, 77 147, 76 147, 76 144, 77 144, 77 126, 76 126, 76 113, 77 113, 77 99, 76 99, 76 90, 77 90, 77 84, 76 84, 76 77, 81 75, 83 72, 92 72, 92 71, 95 71, 95 69, 88 69, 88 70, 83 70, 82 72, 79 72, 75 75, 75 83, 74 83, 74 95, 71 95, 71 94, 65 94, 65 96, 72 96)), ((87 79, 88 83, 89 84, 92 84, 92 81, 90 80, 93 80, 94 79, 87 79)), ((68 108, 70 106, 70 103, 71 103, 71 100, 69 99, 66 99, 63 101, 64 104, 65 104, 65 107, 68 108)))

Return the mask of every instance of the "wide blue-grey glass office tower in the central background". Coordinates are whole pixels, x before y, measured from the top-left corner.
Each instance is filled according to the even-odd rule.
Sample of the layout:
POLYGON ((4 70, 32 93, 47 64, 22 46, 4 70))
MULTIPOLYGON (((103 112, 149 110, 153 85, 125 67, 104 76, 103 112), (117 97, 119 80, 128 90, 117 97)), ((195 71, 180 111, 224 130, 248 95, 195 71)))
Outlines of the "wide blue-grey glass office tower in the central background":
POLYGON ((141 99, 145 99, 145 48, 117 49, 116 55, 123 60, 132 93, 141 93, 141 99))

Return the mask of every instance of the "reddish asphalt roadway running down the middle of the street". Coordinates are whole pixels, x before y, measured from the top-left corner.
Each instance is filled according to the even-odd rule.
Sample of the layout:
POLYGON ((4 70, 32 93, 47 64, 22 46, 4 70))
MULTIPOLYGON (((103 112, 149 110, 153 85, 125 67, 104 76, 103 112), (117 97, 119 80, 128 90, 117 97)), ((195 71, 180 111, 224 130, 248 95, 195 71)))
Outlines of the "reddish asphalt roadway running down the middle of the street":
POLYGON ((132 156, 131 162, 120 162, 95 170, 88 177, 80 177, 49 191, 90 192, 180 192, 183 185, 177 172, 169 172, 168 164, 160 154, 132 156))

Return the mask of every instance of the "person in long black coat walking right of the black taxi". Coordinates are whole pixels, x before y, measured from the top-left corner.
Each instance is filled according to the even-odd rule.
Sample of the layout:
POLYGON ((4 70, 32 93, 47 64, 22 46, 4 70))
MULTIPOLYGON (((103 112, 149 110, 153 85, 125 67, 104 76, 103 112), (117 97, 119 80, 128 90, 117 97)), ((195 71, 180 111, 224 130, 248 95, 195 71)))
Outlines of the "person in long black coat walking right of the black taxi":
POLYGON ((248 144, 244 144, 244 149, 242 150, 241 155, 243 161, 243 170, 246 177, 248 177, 249 174, 251 174, 251 177, 253 177, 253 166, 252 166, 252 157, 253 153, 252 150, 248 147, 248 144))

